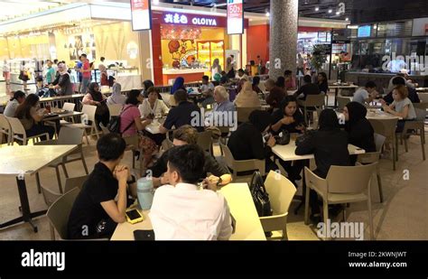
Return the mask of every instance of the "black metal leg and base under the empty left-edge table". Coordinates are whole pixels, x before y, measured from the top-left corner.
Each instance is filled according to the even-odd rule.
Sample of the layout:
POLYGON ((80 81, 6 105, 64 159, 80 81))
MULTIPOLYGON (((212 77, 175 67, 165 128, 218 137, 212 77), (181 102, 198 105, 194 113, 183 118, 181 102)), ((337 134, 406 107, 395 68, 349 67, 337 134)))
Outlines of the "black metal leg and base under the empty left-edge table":
POLYGON ((32 218, 46 214, 46 210, 31 212, 25 180, 16 177, 16 184, 18 186, 19 200, 21 200, 21 211, 23 216, 0 224, 0 228, 6 228, 20 222, 27 222, 32 226, 33 231, 37 232, 37 226, 33 224, 32 218))

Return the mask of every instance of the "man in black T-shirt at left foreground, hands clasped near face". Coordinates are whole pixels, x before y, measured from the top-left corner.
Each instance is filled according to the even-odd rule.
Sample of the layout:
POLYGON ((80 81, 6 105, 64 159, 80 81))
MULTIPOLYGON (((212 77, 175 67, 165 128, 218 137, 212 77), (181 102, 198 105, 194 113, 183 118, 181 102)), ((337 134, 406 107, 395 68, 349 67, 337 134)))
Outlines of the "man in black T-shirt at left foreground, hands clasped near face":
POLYGON ((125 148, 124 139, 117 134, 104 135, 98 140, 99 162, 83 184, 70 212, 70 239, 111 237, 117 223, 125 222, 127 185, 136 196, 135 179, 131 181, 129 169, 119 164, 125 148))

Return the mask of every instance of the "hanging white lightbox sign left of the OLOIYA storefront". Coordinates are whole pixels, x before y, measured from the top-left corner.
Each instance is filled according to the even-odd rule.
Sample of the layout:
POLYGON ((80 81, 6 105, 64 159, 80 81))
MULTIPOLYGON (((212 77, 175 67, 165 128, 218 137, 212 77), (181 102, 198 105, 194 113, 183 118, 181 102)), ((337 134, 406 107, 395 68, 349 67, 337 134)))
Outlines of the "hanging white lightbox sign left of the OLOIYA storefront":
POLYGON ((132 29, 134 31, 152 29, 151 0, 131 0, 132 29))

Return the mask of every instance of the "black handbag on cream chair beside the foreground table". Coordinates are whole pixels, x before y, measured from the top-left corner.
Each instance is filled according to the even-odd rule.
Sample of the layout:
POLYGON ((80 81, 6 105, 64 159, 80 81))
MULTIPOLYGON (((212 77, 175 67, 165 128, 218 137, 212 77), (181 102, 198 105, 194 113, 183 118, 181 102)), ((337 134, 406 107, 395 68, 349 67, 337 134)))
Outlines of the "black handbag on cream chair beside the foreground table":
POLYGON ((253 177, 251 178, 250 191, 257 209, 258 216, 271 216, 271 202, 265 189, 265 182, 263 181, 260 172, 256 171, 253 173, 253 177))

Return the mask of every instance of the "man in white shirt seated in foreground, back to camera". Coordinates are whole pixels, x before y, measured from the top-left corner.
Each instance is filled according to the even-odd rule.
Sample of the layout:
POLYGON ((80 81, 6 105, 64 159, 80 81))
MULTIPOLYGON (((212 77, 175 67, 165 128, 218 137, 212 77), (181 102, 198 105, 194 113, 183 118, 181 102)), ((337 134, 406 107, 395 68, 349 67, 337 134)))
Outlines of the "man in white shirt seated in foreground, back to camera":
POLYGON ((154 193, 150 219, 156 240, 228 240, 232 219, 228 202, 215 185, 199 190, 204 153, 196 144, 175 146, 168 153, 170 185, 154 193))

